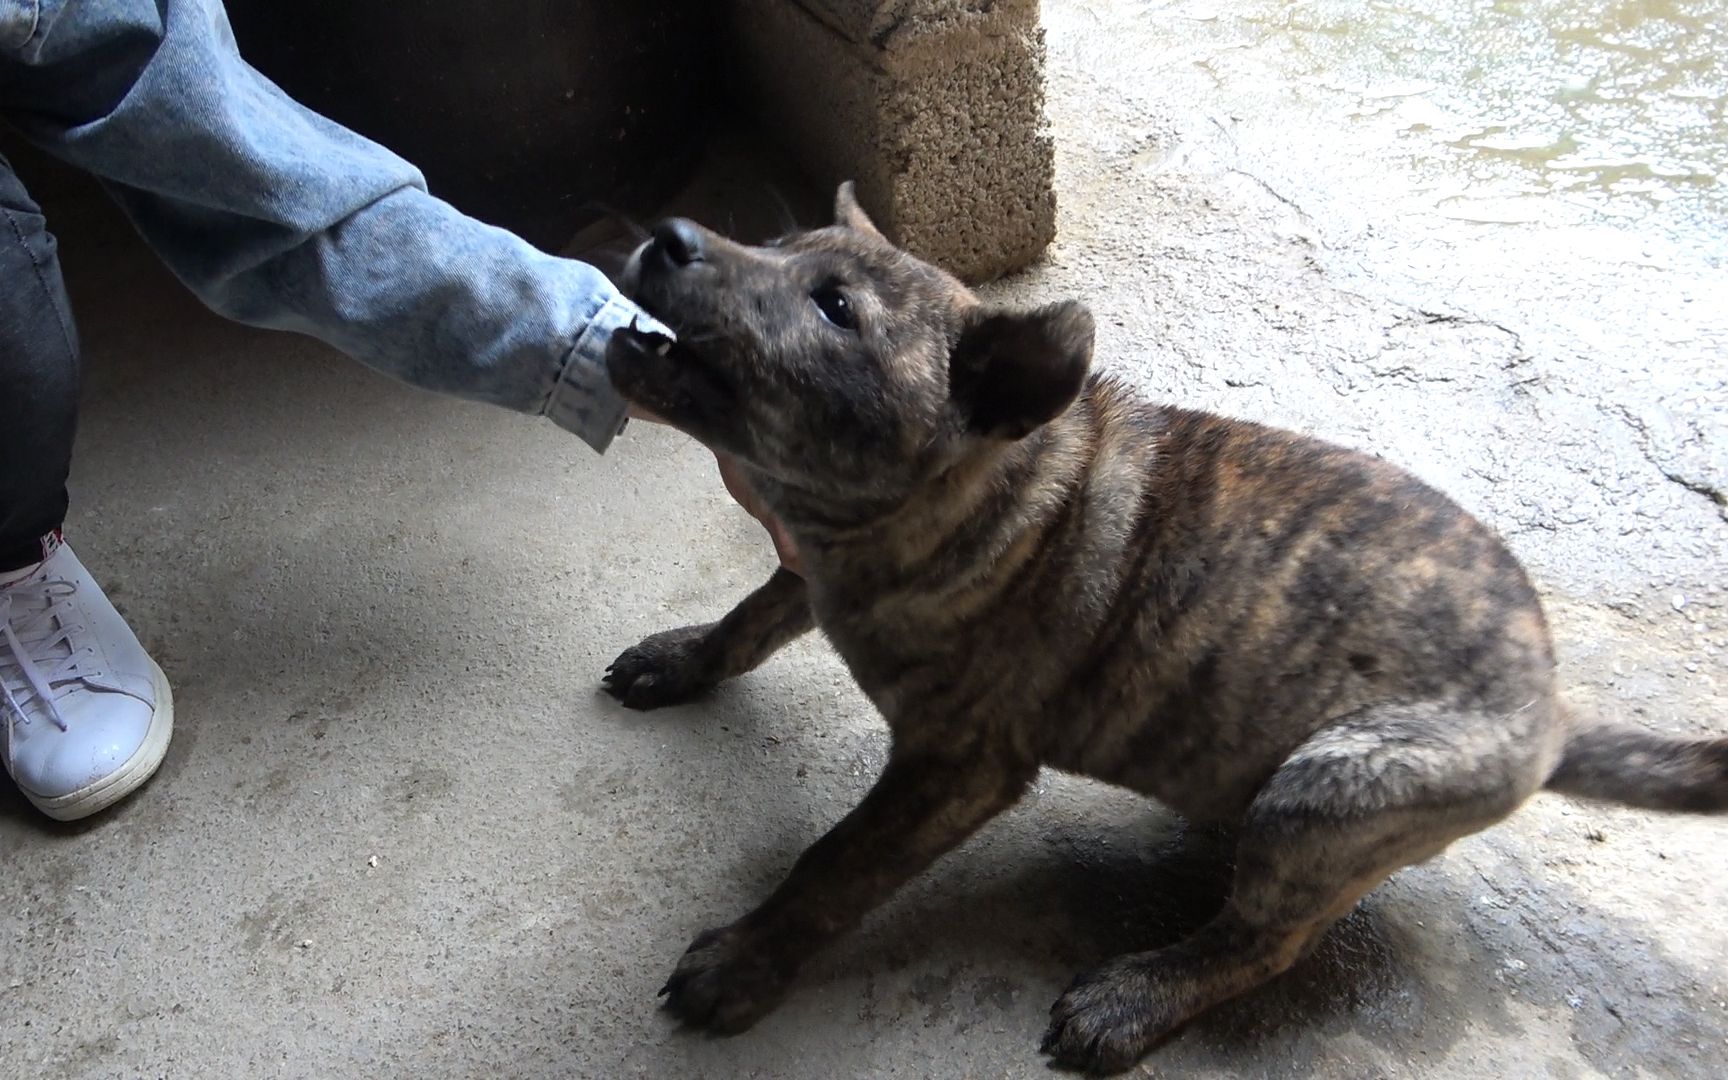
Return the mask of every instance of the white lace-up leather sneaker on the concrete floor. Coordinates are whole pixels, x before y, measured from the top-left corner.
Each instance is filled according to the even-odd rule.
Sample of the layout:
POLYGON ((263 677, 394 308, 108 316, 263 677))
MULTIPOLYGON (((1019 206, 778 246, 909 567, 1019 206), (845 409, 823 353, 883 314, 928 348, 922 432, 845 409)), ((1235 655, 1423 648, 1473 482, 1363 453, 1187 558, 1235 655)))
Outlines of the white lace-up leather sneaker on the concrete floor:
POLYGON ((0 575, 0 750, 38 810, 76 821, 135 791, 173 717, 162 669, 59 537, 0 575))

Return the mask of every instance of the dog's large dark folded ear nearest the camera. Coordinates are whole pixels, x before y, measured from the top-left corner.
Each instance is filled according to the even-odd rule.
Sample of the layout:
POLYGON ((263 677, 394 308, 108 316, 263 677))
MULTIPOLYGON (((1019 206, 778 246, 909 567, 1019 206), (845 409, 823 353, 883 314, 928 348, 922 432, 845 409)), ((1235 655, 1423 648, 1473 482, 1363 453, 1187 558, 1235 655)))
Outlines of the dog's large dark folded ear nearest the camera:
POLYGON ((968 429, 1021 439, 1073 404, 1090 366, 1092 313, 1085 306, 976 309, 949 356, 949 396, 968 429))

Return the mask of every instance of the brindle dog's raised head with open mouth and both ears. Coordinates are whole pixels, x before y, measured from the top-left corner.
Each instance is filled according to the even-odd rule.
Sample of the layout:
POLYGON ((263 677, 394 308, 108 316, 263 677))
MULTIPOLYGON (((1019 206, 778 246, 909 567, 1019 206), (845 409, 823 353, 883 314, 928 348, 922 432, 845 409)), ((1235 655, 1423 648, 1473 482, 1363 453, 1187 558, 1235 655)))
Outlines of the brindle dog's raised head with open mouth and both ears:
POLYGON ((619 392, 785 487, 893 505, 968 453, 1061 415, 1092 316, 982 304, 890 244, 842 185, 835 223, 746 247, 683 219, 632 256, 624 290, 677 342, 624 332, 619 392))

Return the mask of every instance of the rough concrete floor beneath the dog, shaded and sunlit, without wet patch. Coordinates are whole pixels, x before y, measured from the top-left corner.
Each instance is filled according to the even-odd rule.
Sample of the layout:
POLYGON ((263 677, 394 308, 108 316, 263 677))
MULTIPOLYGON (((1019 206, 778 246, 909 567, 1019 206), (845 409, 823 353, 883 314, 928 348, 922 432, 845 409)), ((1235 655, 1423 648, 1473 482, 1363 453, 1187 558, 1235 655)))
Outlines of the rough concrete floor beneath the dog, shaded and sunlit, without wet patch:
MULTIPOLYGON (((1045 10, 1063 237, 992 294, 1083 295, 1149 391, 1441 482, 1529 562, 1579 703, 1728 731, 1716 256, 1439 218, 1253 52, 1220 78, 1165 16, 1045 10)), ((598 693, 771 567, 712 461, 641 429, 594 458, 207 316, 98 207, 60 226, 90 363, 73 537, 180 726, 83 826, 0 788, 5 1077, 1042 1077, 1068 978, 1215 900, 1166 814, 1047 776, 757 1030, 677 1032, 655 990, 689 937, 885 750, 819 641, 702 705, 598 693)), ((1541 797, 1149 1064, 1721 1077, 1725 842, 1541 797)))

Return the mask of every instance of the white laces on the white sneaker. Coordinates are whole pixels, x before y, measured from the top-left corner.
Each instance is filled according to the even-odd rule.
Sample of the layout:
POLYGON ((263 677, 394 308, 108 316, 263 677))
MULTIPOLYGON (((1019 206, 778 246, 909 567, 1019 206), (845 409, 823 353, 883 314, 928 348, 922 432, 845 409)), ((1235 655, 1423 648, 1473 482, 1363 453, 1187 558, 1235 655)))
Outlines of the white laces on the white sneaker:
POLYGON ((83 631, 69 603, 76 591, 76 582, 57 577, 0 589, 0 693, 26 722, 24 707, 38 702, 60 731, 67 727, 55 703, 59 688, 90 674, 79 664, 92 650, 73 639, 83 631))

